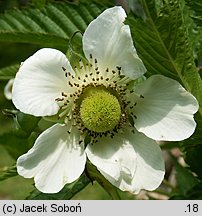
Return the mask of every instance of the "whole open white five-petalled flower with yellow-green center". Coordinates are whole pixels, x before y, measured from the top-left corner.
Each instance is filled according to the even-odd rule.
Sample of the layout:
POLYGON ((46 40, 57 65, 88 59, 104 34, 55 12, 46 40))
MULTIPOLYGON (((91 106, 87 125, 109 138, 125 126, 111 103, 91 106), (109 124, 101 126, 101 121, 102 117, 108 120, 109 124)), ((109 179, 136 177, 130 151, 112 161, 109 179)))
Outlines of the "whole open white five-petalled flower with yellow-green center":
POLYGON ((60 51, 41 49, 16 75, 13 102, 20 111, 64 119, 17 160, 18 173, 34 177, 42 192, 56 193, 76 180, 86 157, 123 191, 154 190, 165 172, 154 140, 177 141, 194 132, 198 103, 178 82, 155 75, 128 89, 146 69, 125 17, 117 6, 90 23, 83 35, 87 65, 80 61, 73 70, 60 51), (91 137, 86 148, 85 136, 91 137))

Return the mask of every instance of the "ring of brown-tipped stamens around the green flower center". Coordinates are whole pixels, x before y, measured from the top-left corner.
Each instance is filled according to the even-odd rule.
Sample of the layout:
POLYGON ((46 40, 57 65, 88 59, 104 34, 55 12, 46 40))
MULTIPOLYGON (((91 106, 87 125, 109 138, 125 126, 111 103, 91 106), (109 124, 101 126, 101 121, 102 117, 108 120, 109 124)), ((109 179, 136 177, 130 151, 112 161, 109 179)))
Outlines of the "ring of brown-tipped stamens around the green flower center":
MULTIPOLYGON (((84 64, 83 61, 79 60, 79 66, 75 66, 75 76, 72 75, 71 72, 65 72, 65 77, 68 78, 67 84, 70 87, 73 87, 71 94, 61 92, 63 98, 55 99, 61 109, 61 113, 59 117, 65 117, 65 123, 67 125, 71 125, 71 128, 76 125, 82 136, 88 134, 92 139, 91 143, 98 142, 99 137, 109 136, 113 138, 115 134, 128 122, 128 114, 125 111, 125 108, 128 107, 130 109, 130 114, 136 119, 137 116, 134 115, 133 108, 136 106, 135 103, 131 103, 130 101, 126 101, 125 95, 128 93, 134 93, 133 90, 129 91, 127 86, 130 79, 126 76, 120 77, 121 67, 116 66, 114 70, 109 70, 106 68, 104 71, 100 71, 98 67, 98 60, 93 58, 93 55, 90 54, 89 63, 84 64), (87 129, 84 126, 84 123, 80 116, 80 106, 83 101, 82 97, 85 96, 85 91, 87 88, 100 88, 106 89, 106 91, 112 94, 115 98, 117 98, 118 103, 120 102, 120 120, 117 125, 110 129, 109 131, 105 131, 104 129, 100 131, 104 132, 95 132, 87 129), (81 95, 84 95, 80 97, 81 95), (68 99, 68 100, 67 100, 68 99), (61 103, 61 104, 60 104, 61 103)), ((66 68, 62 67, 63 71, 66 71, 66 68)), ((135 93, 134 93, 135 94, 135 93)), ((140 98, 144 98, 143 95, 138 95, 140 98)), ((71 128, 68 130, 70 134, 71 128)), ((79 144, 81 144, 84 139, 79 140, 79 144)))

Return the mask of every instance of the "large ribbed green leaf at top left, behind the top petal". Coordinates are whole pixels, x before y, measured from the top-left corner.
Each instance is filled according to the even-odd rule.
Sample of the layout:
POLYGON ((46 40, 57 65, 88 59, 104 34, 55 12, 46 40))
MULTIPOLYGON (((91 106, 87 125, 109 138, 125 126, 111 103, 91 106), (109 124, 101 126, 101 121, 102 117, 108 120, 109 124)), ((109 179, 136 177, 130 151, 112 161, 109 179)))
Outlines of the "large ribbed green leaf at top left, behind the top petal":
MULTIPOLYGON (((67 47, 72 35, 83 33, 104 8, 93 2, 65 2, 48 3, 41 10, 11 10, 0 16, 0 41, 67 47)), ((75 36, 74 43, 81 45, 81 34, 75 36)))

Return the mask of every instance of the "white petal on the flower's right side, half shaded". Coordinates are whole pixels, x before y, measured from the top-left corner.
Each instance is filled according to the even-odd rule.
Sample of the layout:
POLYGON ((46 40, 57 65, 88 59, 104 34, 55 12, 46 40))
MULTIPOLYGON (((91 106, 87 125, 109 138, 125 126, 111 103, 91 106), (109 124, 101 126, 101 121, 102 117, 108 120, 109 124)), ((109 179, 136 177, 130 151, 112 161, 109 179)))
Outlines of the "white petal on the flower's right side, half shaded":
POLYGON ((193 114, 198 102, 177 81, 154 75, 137 86, 133 113, 138 131, 155 140, 179 141, 190 137, 196 127, 193 114))

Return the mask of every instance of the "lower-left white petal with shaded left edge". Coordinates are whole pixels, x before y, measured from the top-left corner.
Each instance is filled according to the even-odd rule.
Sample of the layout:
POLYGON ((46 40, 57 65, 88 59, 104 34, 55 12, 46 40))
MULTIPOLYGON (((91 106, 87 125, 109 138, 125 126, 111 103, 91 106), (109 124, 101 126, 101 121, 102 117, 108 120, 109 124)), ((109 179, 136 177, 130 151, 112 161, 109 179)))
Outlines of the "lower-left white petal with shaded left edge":
POLYGON ((86 155, 79 145, 79 132, 55 124, 44 131, 34 146, 17 160, 17 171, 25 178, 34 177, 43 193, 57 193, 66 183, 75 181, 84 171, 86 155))

